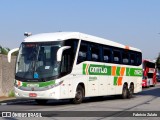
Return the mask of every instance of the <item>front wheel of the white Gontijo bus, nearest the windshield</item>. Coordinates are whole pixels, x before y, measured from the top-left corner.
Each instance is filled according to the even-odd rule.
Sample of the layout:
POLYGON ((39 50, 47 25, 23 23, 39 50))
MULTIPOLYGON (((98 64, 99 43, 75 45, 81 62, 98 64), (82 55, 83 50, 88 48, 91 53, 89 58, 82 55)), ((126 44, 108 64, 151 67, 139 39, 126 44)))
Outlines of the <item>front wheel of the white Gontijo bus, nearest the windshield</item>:
POLYGON ((84 97, 84 88, 81 85, 78 85, 76 90, 75 98, 72 100, 74 104, 80 104, 84 97))

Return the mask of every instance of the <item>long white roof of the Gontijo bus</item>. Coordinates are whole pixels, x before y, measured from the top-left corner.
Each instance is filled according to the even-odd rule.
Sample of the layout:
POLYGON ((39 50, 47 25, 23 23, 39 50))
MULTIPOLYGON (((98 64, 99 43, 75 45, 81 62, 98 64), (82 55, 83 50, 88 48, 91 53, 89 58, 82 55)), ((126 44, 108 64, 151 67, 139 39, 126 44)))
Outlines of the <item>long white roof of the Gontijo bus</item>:
POLYGON ((61 41, 61 40, 67 40, 67 39, 82 39, 82 40, 86 40, 94 43, 100 43, 100 44, 105 44, 109 46, 141 52, 140 49, 137 49, 134 47, 129 47, 108 39, 104 39, 104 38, 100 38, 100 37, 96 37, 96 36, 92 36, 92 35, 88 35, 80 32, 41 33, 41 34, 36 34, 36 35, 26 37, 24 39, 24 42, 49 42, 49 41, 61 41))

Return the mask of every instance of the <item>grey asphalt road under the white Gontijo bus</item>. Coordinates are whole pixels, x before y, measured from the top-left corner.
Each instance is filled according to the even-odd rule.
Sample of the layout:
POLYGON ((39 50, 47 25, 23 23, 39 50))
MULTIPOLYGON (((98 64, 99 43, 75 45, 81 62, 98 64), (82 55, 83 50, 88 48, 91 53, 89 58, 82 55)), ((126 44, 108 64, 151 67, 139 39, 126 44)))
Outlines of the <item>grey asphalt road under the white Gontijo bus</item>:
MULTIPOLYGON (((23 111, 24 112, 26 110, 33 111, 33 112, 47 111, 45 112, 45 115, 47 116, 47 118, 45 119, 48 119, 48 120, 50 119, 103 120, 103 119, 117 119, 117 118, 127 120, 128 117, 131 117, 130 119, 157 119, 158 120, 160 117, 158 118, 156 117, 156 115, 160 116, 160 112, 158 112, 160 111, 160 84, 157 84, 155 87, 143 89, 141 93, 135 94, 131 99, 121 99, 117 96, 107 96, 98 100, 96 98, 87 98, 84 100, 82 104, 78 104, 78 105, 71 104, 68 100, 61 100, 61 101, 50 100, 46 105, 38 105, 34 101, 26 101, 24 103, 20 102, 20 103, 12 103, 10 105, 0 106, 0 111, 20 111, 20 112, 23 111), (64 112, 59 113, 59 111, 64 111, 64 112), (105 111, 105 112, 102 112, 102 111, 105 111), (116 112, 106 112, 106 111, 116 111, 116 112), (128 111, 131 111, 131 112, 128 112, 128 111), (148 112, 143 112, 143 111, 148 111, 148 112), (129 116, 127 116, 127 114, 129 116), (74 116, 74 117, 64 118, 65 115, 74 116), (134 117, 130 115, 133 115, 134 117), (141 117, 138 115, 140 115, 141 117), (144 117, 143 115, 144 116, 149 115, 149 116, 144 117), (124 116, 125 118, 123 118, 122 116, 124 116)), ((6 118, 2 118, 2 119, 6 119, 6 118)), ((16 118, 16 119, 20 119, 20 118, 16 118)))

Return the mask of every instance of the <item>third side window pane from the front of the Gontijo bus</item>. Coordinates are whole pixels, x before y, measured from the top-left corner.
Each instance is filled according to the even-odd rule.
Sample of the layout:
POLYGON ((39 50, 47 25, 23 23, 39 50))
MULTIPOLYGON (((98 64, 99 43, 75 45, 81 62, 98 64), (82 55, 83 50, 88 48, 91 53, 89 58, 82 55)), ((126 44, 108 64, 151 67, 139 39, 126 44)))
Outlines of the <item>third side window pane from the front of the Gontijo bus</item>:
POLYGON ((103 51, 103 61, 106 63, 111 62, 111 51, 109 49, 105 49, 103 51))

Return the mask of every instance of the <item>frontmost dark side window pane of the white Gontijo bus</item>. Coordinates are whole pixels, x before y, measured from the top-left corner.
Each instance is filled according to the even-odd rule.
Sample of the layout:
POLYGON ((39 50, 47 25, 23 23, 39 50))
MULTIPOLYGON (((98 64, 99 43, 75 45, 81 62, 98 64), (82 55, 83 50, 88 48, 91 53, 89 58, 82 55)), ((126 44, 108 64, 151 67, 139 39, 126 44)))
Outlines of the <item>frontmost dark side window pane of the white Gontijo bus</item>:
POLYGON ((81 44, 79 52, 78 52, 78 60, 77 64, 87 60, 87 45, 81 44))

